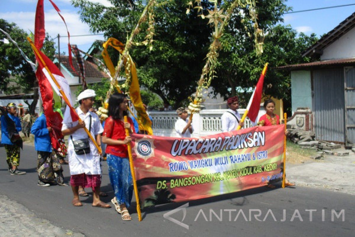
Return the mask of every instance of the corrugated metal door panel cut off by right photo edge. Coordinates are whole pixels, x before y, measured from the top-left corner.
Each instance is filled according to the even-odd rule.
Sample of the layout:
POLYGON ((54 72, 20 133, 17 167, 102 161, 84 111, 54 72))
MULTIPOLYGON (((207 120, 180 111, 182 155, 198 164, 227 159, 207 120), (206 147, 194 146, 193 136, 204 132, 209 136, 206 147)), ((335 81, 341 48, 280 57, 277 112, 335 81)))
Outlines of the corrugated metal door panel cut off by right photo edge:
POLYGON ((345 68, 346 145, 355 144, 355 68, 345 68))

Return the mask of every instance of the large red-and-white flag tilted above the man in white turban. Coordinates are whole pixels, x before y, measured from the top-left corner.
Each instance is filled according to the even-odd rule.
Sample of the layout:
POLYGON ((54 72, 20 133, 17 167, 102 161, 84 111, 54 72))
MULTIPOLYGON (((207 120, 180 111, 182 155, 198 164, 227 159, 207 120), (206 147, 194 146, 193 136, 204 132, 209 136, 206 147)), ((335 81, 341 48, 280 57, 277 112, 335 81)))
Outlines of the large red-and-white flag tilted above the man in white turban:
MULTIPOLYGON (((37 50, 38 50, 38 48, 37 48, 37 50)), ((73 103, 71 101, 70 87, 69 87, 68 82, 65 80, 65 77, 63 76, 61 71, 57 68, 57 66, 44 53, 40 52, 39 50, 38 50, 38 53, 40 55, 37 55, 37 53, 34 52, 34 55, 36 56, 36 59, 38 61, 37 72, 39 72, 39 71, 42 72, 42 75, 44 75, 44 78, 43 78, 43 76, 42 77, 40 76, 40 80, 41 80, 42 84, 46 84, 46 86, 44 87, 44 90, 43 91, 41 90, 42 98, 46 97, 47 95, 48 95, 48 97, 50 97, 49 94, 52 93, 51 98, 50 98, 50 106, 52 106, 51 99, 53 98, 53 92, 51 89, 50 90, 45 89, 45 88, 48 88, 48 85, 47 85, 47 81, 48 81, 49 85, 51 87, 53 87, 53 90, 59 96, 61 96, 67 104, 65 114, 64 114, 64 121, 66 123, 77 121, 79 119, 79 117, 73 108, 73 103), (43 60, 43 62, 41 59, 43 60), (46 66, 47 66, 48 70, 51 72, 51 74, 53 75, 53 77, 55 78, 57 83, 55 83, 54 80, 52 79, 51 75, 49 74, 48 70, 46 69, 46 66), (62 93, 60 93, 60 91, 62 91, 64 96, 62 95, 62 93)), ((37 73, 37 74, 39 74, 39 73, 37 73)), ((39 84, 41 84, 41 83, 39 83, 39 84)), ((40 87, 40 89, 41 89, 41 87, 40 87)), ((47 101, 48 101, 47 99, 46 99, 46 101, 43 101, 44 109, 46 109, 46 107, 49 106, 49 105, 46 105, 47 101)))

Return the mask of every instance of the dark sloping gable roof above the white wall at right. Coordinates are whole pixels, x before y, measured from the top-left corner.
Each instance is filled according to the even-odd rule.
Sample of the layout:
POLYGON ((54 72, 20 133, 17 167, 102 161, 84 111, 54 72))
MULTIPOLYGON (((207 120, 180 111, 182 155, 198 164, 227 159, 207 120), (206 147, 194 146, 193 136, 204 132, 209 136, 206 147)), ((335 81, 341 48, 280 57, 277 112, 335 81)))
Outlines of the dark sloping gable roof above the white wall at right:
POLYGON ((342 21, 337 27, 324 34, 316 43, 302 52, 302 57, 317 57, 323 53, 323 49, 334 43, 337 39, 349 32, 355 26, 355 12, 342 21))

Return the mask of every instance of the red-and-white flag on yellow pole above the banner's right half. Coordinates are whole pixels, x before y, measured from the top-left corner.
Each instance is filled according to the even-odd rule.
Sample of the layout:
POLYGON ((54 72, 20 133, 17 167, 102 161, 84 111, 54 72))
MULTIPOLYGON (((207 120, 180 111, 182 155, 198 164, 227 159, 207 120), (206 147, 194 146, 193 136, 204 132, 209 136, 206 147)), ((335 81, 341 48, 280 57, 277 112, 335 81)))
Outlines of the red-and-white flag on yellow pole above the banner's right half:
POLYGON ((267 66, 268 63, 265 64, 264 69, 261 72, 259 81, 256 84, 253 94, 249 100, 248 106, 246 107, 248 111, 248 117, 254 123, 256 118, 258 117, 258 113, 260 109, 261 96, 263 93, 264 77, 265 77, 267 66))

